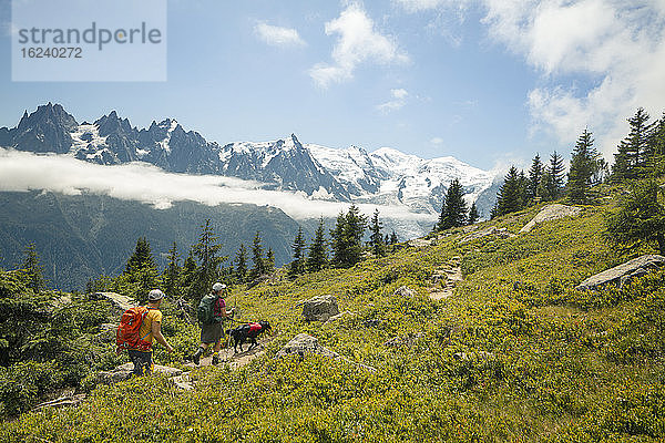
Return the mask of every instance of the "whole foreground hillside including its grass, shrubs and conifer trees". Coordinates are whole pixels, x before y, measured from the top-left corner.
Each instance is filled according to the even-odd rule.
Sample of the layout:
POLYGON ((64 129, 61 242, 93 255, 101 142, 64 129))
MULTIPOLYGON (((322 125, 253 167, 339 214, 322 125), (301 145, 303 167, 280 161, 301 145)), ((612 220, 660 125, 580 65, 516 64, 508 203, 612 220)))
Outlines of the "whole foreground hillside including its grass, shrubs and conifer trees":
POLYGON ((120 276, 63 293, 44 288, 28 248, 22 269, 0 275, 2 440, 662 441, 663 123, 643 147, 632 126, 622 143, 637 154, 623 163, 620 151, 626 169, 601 178, 585 131, 560 199, 529 195, 544 189, 536 184, 508 202, 511 172, 492 219, 458 224, 464 217, 447 210, 463 205, 444 205, 452 227, 407 243, 372 235, 367 245, 366 227, 381 230, 378 213, 369 220, 351 206, 329 236, 323 220, 313 243, 300 230, 284 268, 273 268, 259 234, 225 268, 206 223, 186 259, 174 245, 158 270, 139 239, 120 276), (626 262, 642 265, 589 279, 626 262), (237 321, 269 321, 276 334, 259 352, 223 350, 219 365, 192 367, 192 306, 217 279, 232 285, 237 321), (157 347, 154 358, 178 378, 101 377, 124 361, 116 308, 101 296, 145 301, 152 287, 165 288, 163 330, 176 349, 157 347), (329 296, 334 312, 308 318, 307 300, 329 296), (289 353, 303 337, 309 344, 289 353))

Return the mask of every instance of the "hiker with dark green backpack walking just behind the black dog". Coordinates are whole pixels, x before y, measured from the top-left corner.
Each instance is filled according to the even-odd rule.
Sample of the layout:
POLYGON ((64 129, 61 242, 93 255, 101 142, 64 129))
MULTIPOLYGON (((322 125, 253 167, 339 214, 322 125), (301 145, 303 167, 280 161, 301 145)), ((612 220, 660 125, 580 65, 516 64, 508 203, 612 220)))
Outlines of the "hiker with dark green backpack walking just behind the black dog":
POLYGON ((222 338, 224 336, 223 322, 231 318, 235 311, 234 308, 226 310, 226 285, 216 282, 213 285, 212 293, 204 296, 198 303, 198 324, 201 326, 201 344, 192 356, 194 364, 201 363, 201 356, 211 346, 215 353, 213 354, 213 364, 219 363, 219 351, 222 349, 222 338))

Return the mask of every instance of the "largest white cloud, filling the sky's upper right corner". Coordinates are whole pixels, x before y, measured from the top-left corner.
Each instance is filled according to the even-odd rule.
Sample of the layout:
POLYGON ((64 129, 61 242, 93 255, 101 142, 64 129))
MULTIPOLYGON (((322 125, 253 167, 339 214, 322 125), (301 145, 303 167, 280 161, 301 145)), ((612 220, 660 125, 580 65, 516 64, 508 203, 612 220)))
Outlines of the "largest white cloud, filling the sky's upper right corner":
POLYGON ((589 125, 607 157, 638 106, 659 116, 665 97, 665 2, 483 0, 490 35, 540 70, 528 103, 538 130, 573 143, 589 125), (582 75, 587 90, 564 86, 582 75))

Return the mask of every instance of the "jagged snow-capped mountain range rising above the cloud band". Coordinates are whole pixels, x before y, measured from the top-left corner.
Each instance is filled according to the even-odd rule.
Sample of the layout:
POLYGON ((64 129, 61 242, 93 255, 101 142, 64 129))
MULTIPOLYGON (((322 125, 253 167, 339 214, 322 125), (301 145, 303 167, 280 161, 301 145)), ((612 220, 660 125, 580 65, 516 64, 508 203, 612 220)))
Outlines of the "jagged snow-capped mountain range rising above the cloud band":
MULTIPOLYGON (((423 159, 382 147, 372 153, 303 144, 295 134, 272 142, 219 145, 175 120, 136 128, 115 111, 79 124, 59 104, 25 112, 13 128, 0 128, 0 146, 58 153, 103 165, 146 162, 165 171, 219 174, 300 192, 310 198, 402 205, 436 215, 450 182, 458 178, 469 203, 492 185, 489 172, 453 157, 423 159)), ((481 208, 482 210, 482 208, 481 208)))

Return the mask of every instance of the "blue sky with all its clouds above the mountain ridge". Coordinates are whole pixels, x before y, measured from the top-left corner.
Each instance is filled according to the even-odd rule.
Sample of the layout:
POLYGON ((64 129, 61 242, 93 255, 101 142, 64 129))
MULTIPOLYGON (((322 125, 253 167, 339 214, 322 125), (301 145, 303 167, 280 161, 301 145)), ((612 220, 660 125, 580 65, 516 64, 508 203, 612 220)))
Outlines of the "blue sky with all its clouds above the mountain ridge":
POLYGON ((51 101, 80 122, 117 110, 219 143, 293 132, 490 169, 567 156, 585 126, 607 155, 637 106, 665 109, 665 0, 172 0, 154 83, 12 82, 10 16, 1 0, 0 126, 51 101))

